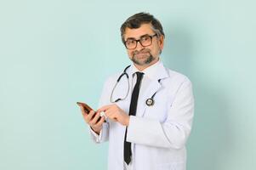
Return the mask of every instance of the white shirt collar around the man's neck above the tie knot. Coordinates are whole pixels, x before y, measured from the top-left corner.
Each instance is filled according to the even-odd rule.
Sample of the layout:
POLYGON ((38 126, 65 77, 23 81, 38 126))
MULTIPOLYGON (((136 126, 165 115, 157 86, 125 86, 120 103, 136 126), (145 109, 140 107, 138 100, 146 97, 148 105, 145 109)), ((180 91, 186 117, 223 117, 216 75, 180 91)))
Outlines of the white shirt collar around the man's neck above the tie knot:
POLYGON ((134 73, 139 71, 139 72, 143 72, 145 74, 146 77, 149 77, 150 79, 154 79, 155 75, 156 75, 156 70, 157 70, 157 67, 158 65, 160 65, 162 62, 160 61, 160 59, 158 59, 158 61, 154 64, 154 65, 151 65, 147 68, 145 68, 143 71, 139 71, 137 69, 137 67, 135 65, 132 65, 132 75, 134 77, 134 73))

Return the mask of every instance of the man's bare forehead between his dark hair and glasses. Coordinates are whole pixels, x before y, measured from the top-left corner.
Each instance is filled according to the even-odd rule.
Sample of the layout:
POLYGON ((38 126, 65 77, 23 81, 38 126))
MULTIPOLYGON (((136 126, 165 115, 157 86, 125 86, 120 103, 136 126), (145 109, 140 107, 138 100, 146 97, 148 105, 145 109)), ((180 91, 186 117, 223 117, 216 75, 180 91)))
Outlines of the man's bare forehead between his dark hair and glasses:
POLYGON ((135 39, 138 39, 145 34, 154 34, 154 31, 151 28, 151 24, 142 24, 139 28, 134 29, 126 28, 124 33, 124 39, 127 39, 128 37, 134 37, 135 39))

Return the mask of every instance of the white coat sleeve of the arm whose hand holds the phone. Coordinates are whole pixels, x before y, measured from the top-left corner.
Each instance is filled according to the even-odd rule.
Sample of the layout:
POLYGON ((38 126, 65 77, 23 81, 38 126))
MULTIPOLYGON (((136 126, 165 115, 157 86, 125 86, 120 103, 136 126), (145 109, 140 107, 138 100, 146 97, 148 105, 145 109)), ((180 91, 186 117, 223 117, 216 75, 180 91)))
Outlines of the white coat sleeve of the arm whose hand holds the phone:
MULTIPOLYGON (((100 96, 100 102, 99 102, 98 108, 102 107, 103 105, 108 105, 110 103, 110 92, 111 92, 110 83, 111 83, 111 78, 105 81, 105 84, 103 86, 103 90, 100 96)), ((102 129, 100 131, 100 134, 94 133, 92 128, 89 126, 88 126, 88 129, 89 129, 91 139, 93 139, 95 143, 102 143, 109 139, 109 122, 107 120, 102 124, 102 129)))

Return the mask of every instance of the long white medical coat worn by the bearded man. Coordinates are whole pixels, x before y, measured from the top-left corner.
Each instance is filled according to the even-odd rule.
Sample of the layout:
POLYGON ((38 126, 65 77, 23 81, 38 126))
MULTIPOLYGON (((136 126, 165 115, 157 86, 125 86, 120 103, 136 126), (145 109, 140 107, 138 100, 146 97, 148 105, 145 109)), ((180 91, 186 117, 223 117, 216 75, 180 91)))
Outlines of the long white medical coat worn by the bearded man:
MULTIPOLYGON (((157 66, 154 80, 144 94, 139 94, 136 116, 130 116, 127 141, 132 143, 133 170, 185 170, 185 143, 191 133, 194 114, 194 98, 191 81, 184 75, 157 66), (161 82, 158 80, 161 79, 161 82), (145 100, 155 94, 155 104, 148 106, 145 100)), ((132 94, 131 67, 117 84, 113 99, 122 98, 130 90, 127 99, 117 104, 128 113, 132 94), (128 82, 127 82, 128 81, 128 82)), ((100 106, 111 105, 111 91, 122 73, 109 77, 100 97, 100 106)), ((107 121, 96 143, 109 141, 108 169, 123 169, 123 139, 126 127, 107 121)))

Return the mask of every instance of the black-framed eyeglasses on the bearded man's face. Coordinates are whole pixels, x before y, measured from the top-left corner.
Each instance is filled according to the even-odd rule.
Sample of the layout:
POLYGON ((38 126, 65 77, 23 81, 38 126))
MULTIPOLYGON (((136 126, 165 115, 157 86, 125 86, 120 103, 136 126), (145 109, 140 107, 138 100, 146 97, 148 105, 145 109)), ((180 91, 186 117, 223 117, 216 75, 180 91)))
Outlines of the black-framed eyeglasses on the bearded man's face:
POLYGON ((152 38, 157 36, 157 34, 154 34, 152 36, 150 35, 145 35, 139 38, 139 40, 136 40, 134 38, 128 38, 125 42, 124 45, 128 49, 135 49, 137 48, 137 43, 139 42, 142 47, 147 47, 152 44, 152 38))

